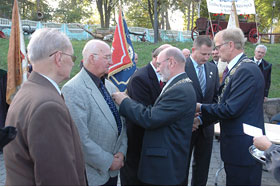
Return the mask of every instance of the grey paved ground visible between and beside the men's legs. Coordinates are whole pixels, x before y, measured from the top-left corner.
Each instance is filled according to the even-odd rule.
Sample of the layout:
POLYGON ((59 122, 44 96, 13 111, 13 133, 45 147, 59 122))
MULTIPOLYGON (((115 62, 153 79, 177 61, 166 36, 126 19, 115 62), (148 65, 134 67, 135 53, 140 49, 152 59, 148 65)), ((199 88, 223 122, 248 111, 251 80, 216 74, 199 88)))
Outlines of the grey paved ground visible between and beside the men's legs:
MULTIPOLYGON (((207 186, 214 186, 215 185, 215 174, 216 171, 221 166, 220 161, 220 148, 219 148, 219 142, 214 140, 213 145, 213 152, 212 152, 212 158, 211 158, 211 164, 210 164, 210 170, 209 170, 209 177, 207 186)), ((191 176, 191 171, 190 171, 191 176)), ((190 179, 189 179, 190 181, 190 179)), ((217 185, 218 186, 225 186, 225 172, 222 170, 219 174, 217 185)), ((190 183, 190 182, 189 182, 190 183)), ((5 167, 4 167, 4 160, 3 155, 0 154, 0 185, 3 186, 5 184, 5 167)), ((120 183, 118 183, 120 184, 120 183)), ((279 183, 272 177, 272 175, 266 171, 263 171, 262 176, 262 186, 279 186, 279 183)))

